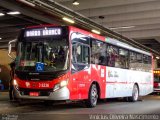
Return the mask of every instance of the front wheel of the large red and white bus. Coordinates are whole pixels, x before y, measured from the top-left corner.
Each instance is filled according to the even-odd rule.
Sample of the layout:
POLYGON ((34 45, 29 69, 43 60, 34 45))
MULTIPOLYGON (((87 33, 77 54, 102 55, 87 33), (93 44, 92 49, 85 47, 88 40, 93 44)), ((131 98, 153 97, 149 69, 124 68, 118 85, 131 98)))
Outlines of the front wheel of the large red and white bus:
POLYGON ((89 90, 88 99, 86 100, 86 106, 89 108, 95 107, 98 99, 98 90, 96 84, 92 84, 89 90))

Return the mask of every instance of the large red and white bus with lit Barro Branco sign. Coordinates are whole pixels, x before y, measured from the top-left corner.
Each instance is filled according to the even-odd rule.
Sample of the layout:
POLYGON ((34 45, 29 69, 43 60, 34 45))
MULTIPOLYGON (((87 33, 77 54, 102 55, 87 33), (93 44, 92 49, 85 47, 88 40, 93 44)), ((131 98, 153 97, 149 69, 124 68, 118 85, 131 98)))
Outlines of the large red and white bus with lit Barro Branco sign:
POLYGON ((152 54, 73 26, 23 29, 16 42, 18 99, 137 101, 153 91, 152 54))

